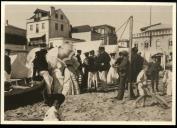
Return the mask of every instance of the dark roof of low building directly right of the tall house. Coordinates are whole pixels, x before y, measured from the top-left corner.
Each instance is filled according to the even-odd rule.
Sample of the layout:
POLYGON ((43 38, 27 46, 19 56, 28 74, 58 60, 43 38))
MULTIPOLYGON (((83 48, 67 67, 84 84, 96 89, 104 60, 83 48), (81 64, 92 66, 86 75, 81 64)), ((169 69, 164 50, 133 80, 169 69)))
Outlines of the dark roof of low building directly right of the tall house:
POLYGON ((91 27, 89 25, 72 27, 72 33, 89 32, 89 31, 91 31, 91 27))

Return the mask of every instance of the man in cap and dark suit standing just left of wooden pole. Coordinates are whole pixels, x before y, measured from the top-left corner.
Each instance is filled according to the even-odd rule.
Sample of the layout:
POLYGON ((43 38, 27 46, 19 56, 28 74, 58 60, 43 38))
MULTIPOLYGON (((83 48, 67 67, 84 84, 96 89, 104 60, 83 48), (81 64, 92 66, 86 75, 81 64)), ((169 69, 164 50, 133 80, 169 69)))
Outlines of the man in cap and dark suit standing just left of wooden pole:
POLYGON ((119 57, 115 64, 118 66, 117 71, 119 74, 119 90, 117 100, 122 100, 124 97, 125 83, 128 77, 129 60, 128 53, 126 51, 119 52, 119 57))

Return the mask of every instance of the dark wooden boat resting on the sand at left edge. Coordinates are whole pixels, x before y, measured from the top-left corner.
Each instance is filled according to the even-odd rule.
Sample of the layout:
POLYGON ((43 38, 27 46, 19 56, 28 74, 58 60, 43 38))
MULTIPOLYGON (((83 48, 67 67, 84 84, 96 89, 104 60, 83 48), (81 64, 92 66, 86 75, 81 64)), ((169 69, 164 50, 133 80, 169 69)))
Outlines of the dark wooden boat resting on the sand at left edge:
MULTIPOLYGON (((11 82, 17 82, 12 80, 11 82)), ((43 99, 42 91, 44 89, 44 81, 32 81, 30 85, 11 85, 9 91, 5 91, 4 101, 5 110, 14 109, 19 106, 33 104, 43 99)))

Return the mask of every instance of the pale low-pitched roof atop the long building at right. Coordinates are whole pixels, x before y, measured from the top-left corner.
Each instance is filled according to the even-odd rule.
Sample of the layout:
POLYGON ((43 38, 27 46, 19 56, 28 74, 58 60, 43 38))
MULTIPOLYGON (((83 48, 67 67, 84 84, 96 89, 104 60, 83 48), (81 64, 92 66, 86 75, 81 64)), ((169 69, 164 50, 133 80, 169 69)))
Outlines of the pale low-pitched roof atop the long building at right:
POLYGON ((162 23, 158 23, 158 24, 153 24, 151 26, 146 26, 141 28, 141 31, 154 31, 154 30, 162 30, 162 29, 171 29, 172 26, 169 24, 162 24, 162 23))

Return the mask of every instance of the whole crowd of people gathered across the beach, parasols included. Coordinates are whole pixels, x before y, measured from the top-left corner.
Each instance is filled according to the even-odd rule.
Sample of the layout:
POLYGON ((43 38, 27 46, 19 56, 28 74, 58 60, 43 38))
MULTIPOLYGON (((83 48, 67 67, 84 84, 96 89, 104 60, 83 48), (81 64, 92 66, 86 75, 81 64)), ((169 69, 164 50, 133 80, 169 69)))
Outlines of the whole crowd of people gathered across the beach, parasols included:
MULTIPOLYGON (((77 50, 75 55, 73 45, 69 42, 63 43, 60 47, 41 49, 35 54, 33 63, 33 78, 36 75, 45 81, 44 91, 45 103, 57 108, 70 94, 84 93, 86 90, 98 89, 100 86, 107 86, 109 83, 119 85, 116 100, 123 100, 124 92, 129 90, 129 98, 137 98, 135 104, 147 95, 148 80, 151 81, 152 93, 159 92, 159 71, 163 70, 160 63, 152 56, 152 61, 147 62, 136 47, 132 48, 131 63, 127 51, 108 54, 104 46, 100 46, 98 53, 94 50, 84 53, 85 58, 81 59, 81 50, 77 50), (50 51, 56 54, 50 55, 50 51), (132 83, 132 84, 130 84, 132 83), (133 85, 137 85, 137 95, 134 94, 133 85)), ((10 71, 9 51, 5 56, 5 71, 10 71)), ((170 73, 166 71, 164 85, 170 83, 170 73)), ((168 87, 167 87, 168 88, 168 87)), ((168 89, 170 94, 170 89, 168 89)), ((153 95, 154 96, 154 95, 153 95)), ((157 97, 156 99, 161 100, 157 97)), ((163 101, 163 100, 161 100, 163 101)))

